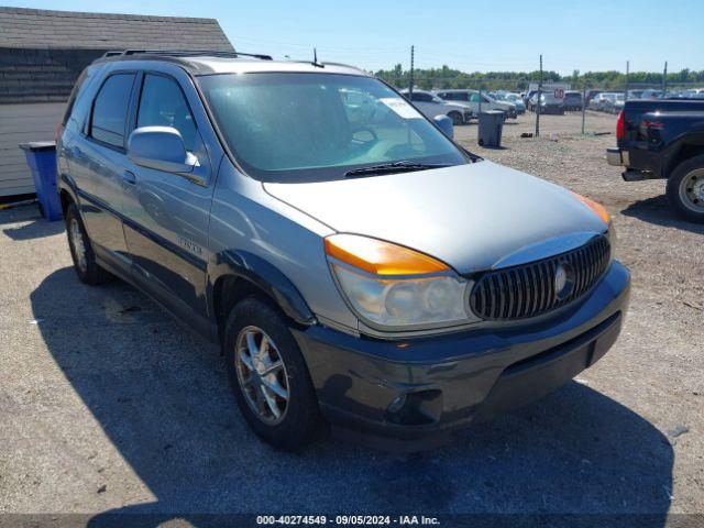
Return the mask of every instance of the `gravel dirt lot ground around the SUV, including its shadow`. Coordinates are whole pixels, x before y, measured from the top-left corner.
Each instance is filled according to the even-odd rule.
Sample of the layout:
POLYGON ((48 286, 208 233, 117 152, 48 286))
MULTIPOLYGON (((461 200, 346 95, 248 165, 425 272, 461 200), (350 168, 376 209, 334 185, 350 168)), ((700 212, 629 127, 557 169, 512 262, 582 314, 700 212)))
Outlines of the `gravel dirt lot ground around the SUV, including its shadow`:
POLYGON ((662 182, 624 183, 613 135, 580 136, 574 114, 520 139, 532 119, 502 150, 476 147, 476 125, 457 135, 606 205, 632 271, 624 332, 576 382, 428 453, 273 451, 216 350, 120 282, 80 284, 61 223, 0 212, 0 512, 704 512, 704 227, 673 216, 662 182))

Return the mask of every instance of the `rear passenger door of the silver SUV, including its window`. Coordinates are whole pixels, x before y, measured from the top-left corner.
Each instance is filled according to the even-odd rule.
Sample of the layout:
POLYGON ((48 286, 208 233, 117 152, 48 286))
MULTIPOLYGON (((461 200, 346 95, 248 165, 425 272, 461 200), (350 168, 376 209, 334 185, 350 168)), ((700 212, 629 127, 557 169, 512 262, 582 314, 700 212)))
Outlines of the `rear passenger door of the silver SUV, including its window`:
POLYGON ((97 255, 129 273, 122 231, 125 136, 135 72, 110 73, 97 90, 81 134, 68 145, 84 222, 97 255))

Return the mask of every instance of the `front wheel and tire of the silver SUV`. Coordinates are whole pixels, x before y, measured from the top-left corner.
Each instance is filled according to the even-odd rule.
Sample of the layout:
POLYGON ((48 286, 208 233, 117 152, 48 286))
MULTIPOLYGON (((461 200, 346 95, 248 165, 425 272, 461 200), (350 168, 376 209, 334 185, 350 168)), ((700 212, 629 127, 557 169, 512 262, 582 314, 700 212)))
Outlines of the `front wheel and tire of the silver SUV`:
POLYGON ((297 451, 311 443, 322 430, 318 399, 284 316, 260 297, 241 300, 228 318, 224 351, 235 400, 252 430, 265 442, 286 451, 297 451), (257 330, 261 336, 256 334, 257 330), (262 350, 258 337, 270 343, 264 355, 250 355, 250 367, 241 359, 241 352, 249 354, 248 336, 252 336, 256 350, 262 350), (273 369, 277 358, 283 367, 260 377, 257 369, 273 369), (270 399, 274 400, 273 405, 270 399), (279 409, 280 416, 274 414, 274 408, 279 409))

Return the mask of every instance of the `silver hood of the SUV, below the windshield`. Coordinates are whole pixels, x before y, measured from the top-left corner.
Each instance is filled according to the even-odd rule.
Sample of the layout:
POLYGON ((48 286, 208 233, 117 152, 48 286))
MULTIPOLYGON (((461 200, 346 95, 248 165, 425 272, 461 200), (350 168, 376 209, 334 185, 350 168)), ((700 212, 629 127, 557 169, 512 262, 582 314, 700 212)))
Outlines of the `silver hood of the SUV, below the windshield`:
POLYGON ((564 243, 581 244, 606 229, 569 190, 487 161, 365 178, 263 185, 272 196, 338 232, 395 242, 460 273, 518 264, 521 255, 527 262, 557 254, 571 249, 564 243), (552 253, 536 256, 540 248, 552 248, 544 250, 552 253))

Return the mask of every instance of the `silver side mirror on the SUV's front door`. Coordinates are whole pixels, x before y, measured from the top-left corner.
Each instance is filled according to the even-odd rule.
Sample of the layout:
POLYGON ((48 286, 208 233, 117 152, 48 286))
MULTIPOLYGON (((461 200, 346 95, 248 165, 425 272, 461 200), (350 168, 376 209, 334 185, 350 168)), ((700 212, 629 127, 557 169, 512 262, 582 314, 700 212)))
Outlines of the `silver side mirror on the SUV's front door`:
POLYGON ((135 165, 188 176, 198 158, 186 151, 180 132, 172 127, 141 127, 128 139, 128 157, 135 165))

